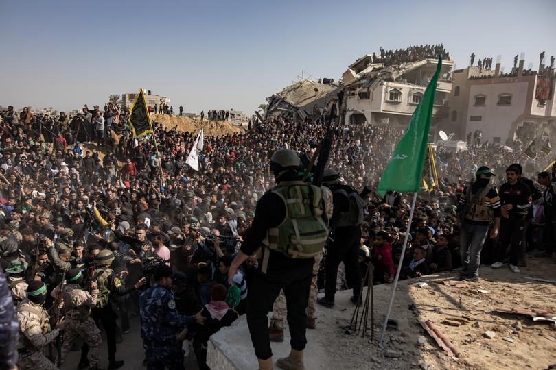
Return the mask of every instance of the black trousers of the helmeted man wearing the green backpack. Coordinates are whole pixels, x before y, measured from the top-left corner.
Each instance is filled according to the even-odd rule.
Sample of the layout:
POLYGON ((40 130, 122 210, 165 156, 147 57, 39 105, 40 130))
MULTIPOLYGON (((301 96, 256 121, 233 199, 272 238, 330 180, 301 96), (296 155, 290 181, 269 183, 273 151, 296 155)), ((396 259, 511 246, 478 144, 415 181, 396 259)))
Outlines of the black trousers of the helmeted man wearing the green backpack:
MULTIPOLYGON (((267 252, 268 253, 268 252, 267 252)), ((272 258, 272 256, 270 256, 272 258)), ((307 344, 307 302, 313 273, 314 259, 295 260, 279 270, 257 271, 249 290, 247 303, 247 324, 257 358, 266 360, 273 356, 268 338, 268 312, 280 290, 286 296, 288 325, 292 339, 290 345, 296 351, 303 351, 307 344)))

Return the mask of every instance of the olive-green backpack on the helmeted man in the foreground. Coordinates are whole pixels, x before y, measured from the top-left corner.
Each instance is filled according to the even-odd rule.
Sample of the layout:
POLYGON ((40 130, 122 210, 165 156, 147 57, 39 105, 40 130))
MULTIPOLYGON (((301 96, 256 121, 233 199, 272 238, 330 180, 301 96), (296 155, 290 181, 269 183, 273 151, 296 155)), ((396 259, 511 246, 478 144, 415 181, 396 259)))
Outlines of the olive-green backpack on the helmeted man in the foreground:
MULTIPOLYGON (((321 253, 329 227, 323 220, 323 189, 303 182, 281 182, 270 190, 286 205, 286 217, 267 230, 263 244, 290 258, 312 258, 321 253)), ((264 254, 263 272, 268 264, 264 254)))

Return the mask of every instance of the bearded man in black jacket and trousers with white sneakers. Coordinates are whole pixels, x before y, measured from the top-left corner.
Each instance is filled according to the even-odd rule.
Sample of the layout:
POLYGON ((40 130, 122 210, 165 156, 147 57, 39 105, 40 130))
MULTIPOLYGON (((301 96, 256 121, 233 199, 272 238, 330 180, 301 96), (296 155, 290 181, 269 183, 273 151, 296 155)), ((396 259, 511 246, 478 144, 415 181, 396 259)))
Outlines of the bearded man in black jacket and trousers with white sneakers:
POLYGON ((531 208, 531 190, 519 180, 520 169, 510 166, 506 169, 505 184, 500 186, 500 204, 502 220, 500 221, 500 243, 496 253, 496 262, 491 264, 498 269, 504 263, 507 248, 510 247, 509 266, 514 273, 520 273, 518 262, 524 254, 523 234, 531 208))

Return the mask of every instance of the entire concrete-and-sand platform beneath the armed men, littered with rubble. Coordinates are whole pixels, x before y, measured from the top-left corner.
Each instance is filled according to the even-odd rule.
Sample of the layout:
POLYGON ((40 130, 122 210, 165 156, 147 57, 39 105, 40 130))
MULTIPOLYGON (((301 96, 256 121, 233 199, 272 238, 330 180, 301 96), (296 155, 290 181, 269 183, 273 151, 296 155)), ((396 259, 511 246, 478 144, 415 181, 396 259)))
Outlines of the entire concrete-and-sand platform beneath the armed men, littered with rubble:
MULTIPOLYGON (((524 277, 555 279, 556 264, 548 259, 531 258, 529 267, 514 274, 508 267, 498 270, 481 267, 481 280, 468 286, 446 286, 456 273, 429 275, 399 283, 391 317, 399 330, 386 330, 384 348, 378 345, 380 328, 388 307, 391 285, 375 286, 373 293, 375 336, 365 338, 349 329, 354 304, 351 291, 336 295, 334 308, 317 305, 317 328, 308 330, 305 368, 312 369, 547 369, 556 364, 556 325, 533 323, 528 317, 493 312, 507 308, 543 308, 556 312, 556 284, 525 280, 524 277), (424 288, 421 283, 426 282, 424 288), (478 292, 478 289, 486 293, 478 292), (445 319, 470 317, 459 327, 446 325, 445 319), (430 320, 461 351, 450 357, 419 325, 430 320), (493 331, 494 338, 485 336, 493 331), (508 341, 509 340, 509 341, 508 341)), ((364 291, 364 294, 367 290, 364 291)), ((369 314, 369 325, 371 323, 369 314)), ((221 369, 257 369, 246 321, 240 317, 231 328, 224 328, 211 339, 214 362, 221 369), (225 365, 231 362, 231 365, 225 365), (225 365, 225 366, 224 366, 225 365)), ((287 356, 290 335, 272 343, 274 360, 287 356)), ((211 345, 209 345, 209 356, 211 345)), ((276 367, 275 367, 276 368, 276 367)))

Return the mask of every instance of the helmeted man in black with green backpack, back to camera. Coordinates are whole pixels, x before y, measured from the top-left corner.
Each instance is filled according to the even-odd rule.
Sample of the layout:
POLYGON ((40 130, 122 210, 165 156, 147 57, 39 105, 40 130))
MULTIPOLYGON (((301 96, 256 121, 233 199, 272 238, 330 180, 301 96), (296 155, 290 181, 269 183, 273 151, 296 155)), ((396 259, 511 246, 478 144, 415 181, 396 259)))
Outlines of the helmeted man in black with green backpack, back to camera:
POLYGON ((294 151, 281 149, 270 158, 270 171, 277 186, 257 203, 253 225, 244 237, 241 251, 229 268, 229 282, 248 256, 260 249, 262 261, 255 273, 247 304, 247 323, 259 369, 273 368, 268 338, 267 314, 281 289, 288 304, 292 347, 290 356, 277 365, 283 369, 303 369, 303 349, 314 256, 328 237, 323 221, 323 188, 300 181, 301 161, 294 151), (262 248, 261 248, 262 247, 262 248))

